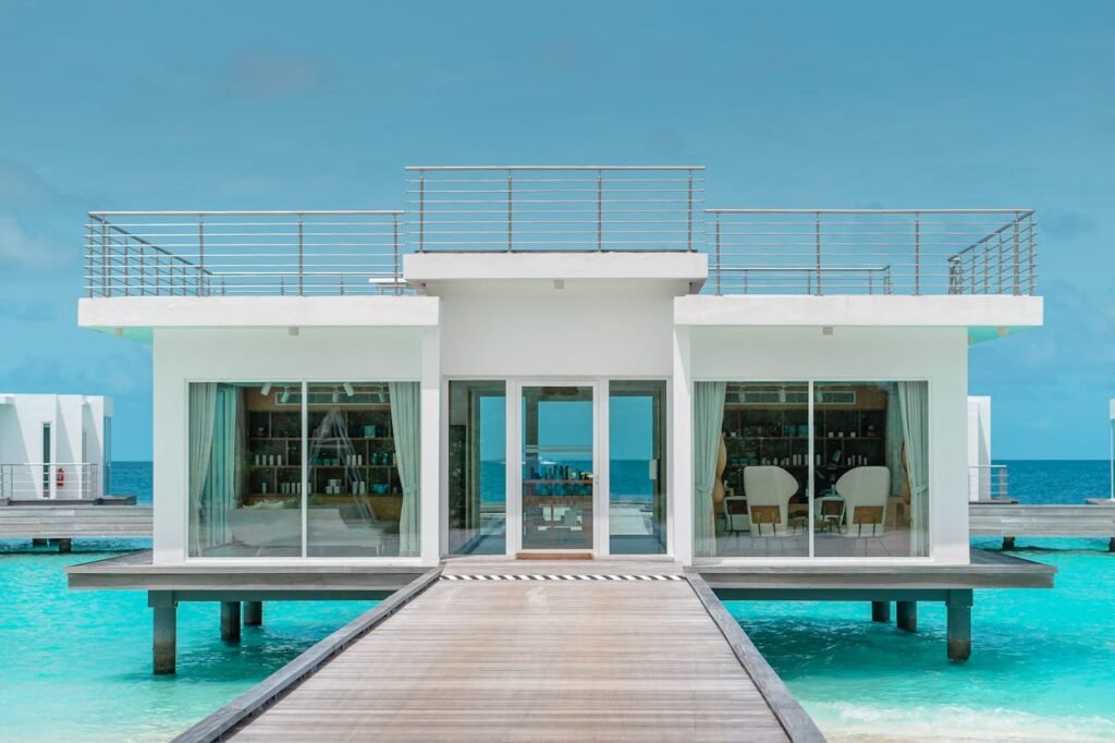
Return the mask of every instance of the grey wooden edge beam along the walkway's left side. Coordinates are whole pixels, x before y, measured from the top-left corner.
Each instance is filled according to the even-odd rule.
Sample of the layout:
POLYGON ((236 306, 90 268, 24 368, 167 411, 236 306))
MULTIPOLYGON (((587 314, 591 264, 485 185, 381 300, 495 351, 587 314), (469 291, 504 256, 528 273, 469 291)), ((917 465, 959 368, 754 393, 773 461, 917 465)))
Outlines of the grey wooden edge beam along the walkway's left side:
POLYGON ((173 739, 173 743, 210 743, 223 741, 236 733, 253 717, 274 705, 303 681, 337 657, 372 629, 378 627, 419 594, 437 582, 440 566, 410 581, 375 608, 361 614, 324 639, 302 652, 293 660, 259 684, 217 708, 173 739))

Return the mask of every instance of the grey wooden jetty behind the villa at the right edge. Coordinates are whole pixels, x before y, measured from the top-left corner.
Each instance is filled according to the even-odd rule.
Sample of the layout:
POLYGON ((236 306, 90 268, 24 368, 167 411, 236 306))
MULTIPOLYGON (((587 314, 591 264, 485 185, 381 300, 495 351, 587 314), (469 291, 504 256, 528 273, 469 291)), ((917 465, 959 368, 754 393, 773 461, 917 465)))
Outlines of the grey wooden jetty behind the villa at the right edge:
POLYGON ((968 508, 972 537, 1090 537, 1107 539, 1115 551, 1115 503, 1079 505, 972 503, 968 508))

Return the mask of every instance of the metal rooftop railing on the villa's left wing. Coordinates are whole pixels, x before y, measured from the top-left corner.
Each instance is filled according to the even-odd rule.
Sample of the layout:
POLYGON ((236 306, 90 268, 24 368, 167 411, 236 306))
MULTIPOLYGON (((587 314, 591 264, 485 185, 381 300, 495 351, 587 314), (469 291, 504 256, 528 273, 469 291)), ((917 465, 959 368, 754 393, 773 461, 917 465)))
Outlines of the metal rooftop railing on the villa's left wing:
POLYGON ((90 212, 89 297, 400 293, 401 212, 90 212))

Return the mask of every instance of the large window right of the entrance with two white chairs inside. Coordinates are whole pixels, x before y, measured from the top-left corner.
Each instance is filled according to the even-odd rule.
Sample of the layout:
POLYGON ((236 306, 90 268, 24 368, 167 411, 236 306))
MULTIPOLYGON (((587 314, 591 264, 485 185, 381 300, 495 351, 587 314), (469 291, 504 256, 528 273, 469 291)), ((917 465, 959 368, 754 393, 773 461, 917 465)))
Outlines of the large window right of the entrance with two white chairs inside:
POLYGON ((924 382, 708 382, 694 406, 697 556, 929 554, 924 382))

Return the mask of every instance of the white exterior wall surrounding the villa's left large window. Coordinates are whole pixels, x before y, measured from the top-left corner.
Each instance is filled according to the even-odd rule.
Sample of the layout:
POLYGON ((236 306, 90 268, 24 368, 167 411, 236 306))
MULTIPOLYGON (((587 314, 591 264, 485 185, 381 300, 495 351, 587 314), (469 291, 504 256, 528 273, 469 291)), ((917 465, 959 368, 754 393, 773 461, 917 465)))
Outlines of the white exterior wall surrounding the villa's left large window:
MULTIPOLYGON (((187 411, 190 382, 416 382, 423 385, 423 441, 438 441, 440 406, 429 389, 436 375, 424 348, 436 350, 436 328, 156 329, 154 332, 154 559, 186 559, 187 411), (433 335, 430 335, 433 334, 433 335), (424 372, 426 374, 424 374, 424 372)), ((438 457, 424 444, 423 565, 438 559, 428 537, 439 489, 438 457), (428 502, 425 493, 433 492, 428 502)), ((324 560, 327 558, 317 558, 324 560)), ((330 558, 337 561, 334 558, 330 558)), ((222 559, 222 563, 234 560, 222 559)), ((414 558, 398 558, 415 562, 414 558)), ((277 562, 271 559, 270 562, 277 562)))

